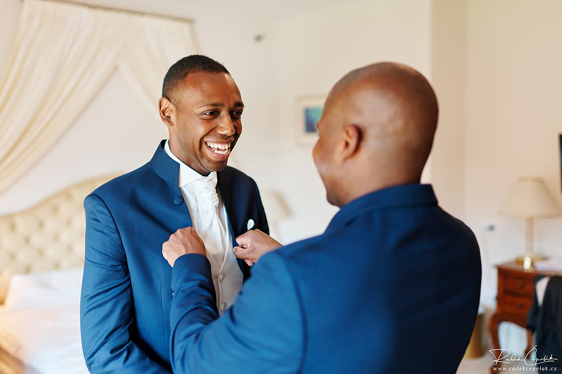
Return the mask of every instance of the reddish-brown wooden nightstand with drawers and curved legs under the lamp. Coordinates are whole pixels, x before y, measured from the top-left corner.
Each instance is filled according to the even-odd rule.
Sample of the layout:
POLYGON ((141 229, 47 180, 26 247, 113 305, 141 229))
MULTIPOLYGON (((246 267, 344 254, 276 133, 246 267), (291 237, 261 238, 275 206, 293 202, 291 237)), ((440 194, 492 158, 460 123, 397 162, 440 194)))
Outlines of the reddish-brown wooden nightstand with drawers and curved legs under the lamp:
MULTIPOLYGON (((513 322, 518 326, 527 328, 527 313, 534 300, 534 277, 536 275, 560 275, 557 272, 538 271, 534 268, 524 270, 523 265, 515 261, 497 266, 497 306, 496 313, 490 320, 490 334, 492 335, 492 348, 500 348, 497 329, 501 322, 513 322)), ((531 349, 531 331, 527 330, 527 350, 531 349)), ((491 373, 497 372, 495 366, 490 368, 491 373)))

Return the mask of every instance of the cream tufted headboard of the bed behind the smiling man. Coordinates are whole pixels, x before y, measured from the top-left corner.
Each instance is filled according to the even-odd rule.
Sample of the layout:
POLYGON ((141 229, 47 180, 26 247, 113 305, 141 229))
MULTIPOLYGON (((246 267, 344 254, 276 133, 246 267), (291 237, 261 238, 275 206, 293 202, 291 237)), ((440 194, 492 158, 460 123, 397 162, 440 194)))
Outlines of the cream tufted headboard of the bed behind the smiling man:
POLYGON ((84 264, 84 198, 112 176, 71 186, 23 212, 0 216, 0 304, 10 277, 84 264))

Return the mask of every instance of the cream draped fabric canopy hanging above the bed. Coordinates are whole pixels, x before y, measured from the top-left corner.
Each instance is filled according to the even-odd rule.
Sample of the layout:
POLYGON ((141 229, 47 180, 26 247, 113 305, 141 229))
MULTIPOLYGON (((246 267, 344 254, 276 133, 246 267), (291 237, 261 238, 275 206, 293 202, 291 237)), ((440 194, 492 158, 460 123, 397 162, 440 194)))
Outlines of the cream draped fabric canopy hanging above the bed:
POLYGON ((167 69, 195 49, 188 21, 25 0, 0 80, 0 193, 48 152, 116 69, 156 107, 167 69))

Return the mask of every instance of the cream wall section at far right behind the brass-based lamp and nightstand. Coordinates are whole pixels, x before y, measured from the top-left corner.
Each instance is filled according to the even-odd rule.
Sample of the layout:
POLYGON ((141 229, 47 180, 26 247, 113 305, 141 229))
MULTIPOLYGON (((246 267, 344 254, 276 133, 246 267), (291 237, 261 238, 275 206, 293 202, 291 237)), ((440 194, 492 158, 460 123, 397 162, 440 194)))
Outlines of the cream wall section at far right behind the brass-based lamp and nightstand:
MULTIPOLYGON (((465 212, 481 245, 482 300, 492 306, 493 264, 524 252, 523 220, 497 214, 516 178, 543 177, 562 204, 561 19, 557 0, 468 1, 465 212), (487 223, 496 230, 483 231, 487 223)), ((538 252, 562 255, 562 220, 537 220, 535 232, 538 252)), ((523 331, 512 335, 524 341, 523 331)))

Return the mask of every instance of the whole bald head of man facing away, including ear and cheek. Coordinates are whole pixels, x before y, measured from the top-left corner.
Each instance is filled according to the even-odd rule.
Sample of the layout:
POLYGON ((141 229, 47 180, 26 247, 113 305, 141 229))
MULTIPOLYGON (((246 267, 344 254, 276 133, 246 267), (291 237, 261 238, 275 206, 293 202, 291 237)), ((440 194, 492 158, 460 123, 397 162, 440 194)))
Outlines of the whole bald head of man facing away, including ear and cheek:
POLYGON ((382 62, 344 76, 328 95, 313 153, 328 200, 342 206, 377 189, 419 183, 437 116, 433 89, 411 67, 382 62))

